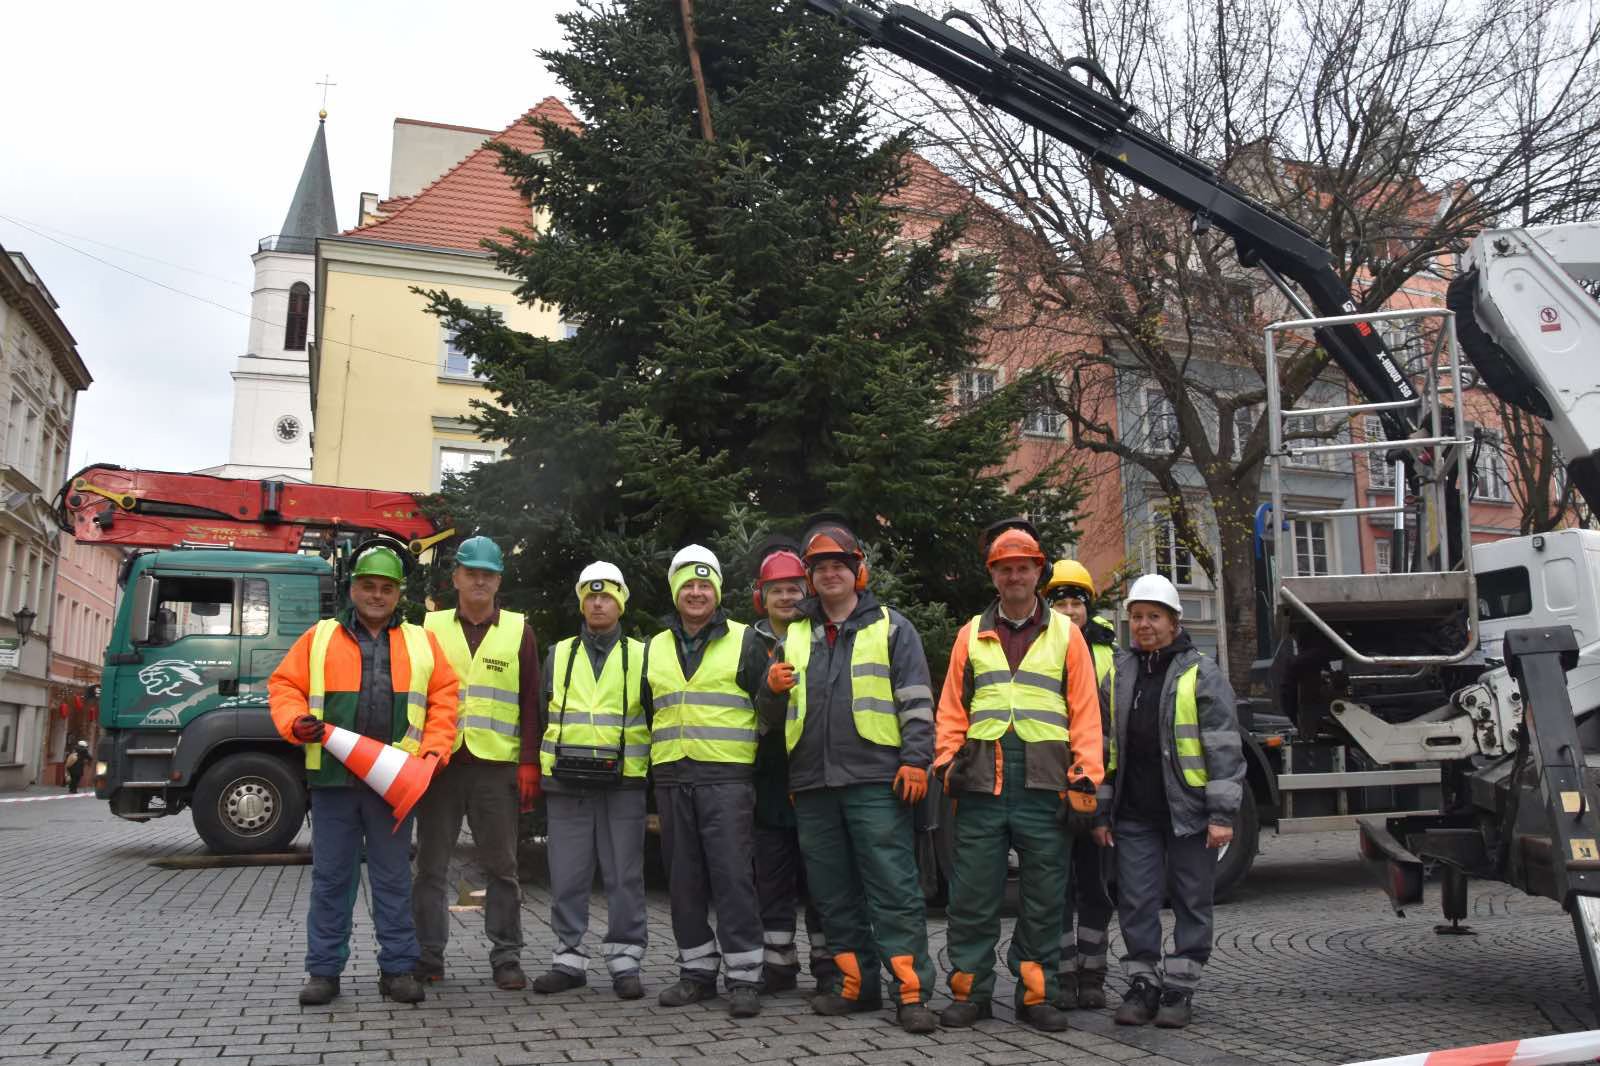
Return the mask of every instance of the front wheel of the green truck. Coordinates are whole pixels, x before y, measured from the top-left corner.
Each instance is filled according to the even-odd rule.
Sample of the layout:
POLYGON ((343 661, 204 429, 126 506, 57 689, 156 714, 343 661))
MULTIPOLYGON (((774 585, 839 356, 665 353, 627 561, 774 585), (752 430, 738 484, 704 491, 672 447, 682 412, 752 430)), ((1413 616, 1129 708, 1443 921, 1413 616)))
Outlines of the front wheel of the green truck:
POLYGON ((306 821, 306 786, 282 759, 246 751, 208 768, 190 807, 218 855, 282 852, 306 821))

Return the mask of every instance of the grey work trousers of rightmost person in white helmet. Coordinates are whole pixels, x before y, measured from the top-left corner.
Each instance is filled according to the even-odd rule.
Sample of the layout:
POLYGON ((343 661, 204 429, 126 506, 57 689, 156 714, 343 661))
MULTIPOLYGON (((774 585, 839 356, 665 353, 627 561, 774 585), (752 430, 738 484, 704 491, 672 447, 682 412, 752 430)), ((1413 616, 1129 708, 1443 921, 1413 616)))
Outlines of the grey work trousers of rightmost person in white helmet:
POLYGON ((1211 959, 1211 892, 1216 852, 1205 831, 1173 836, 1173 826, 1122 818, 1112 829, 1117 856, 1117 922, 1128 978, 1194 989, 1211 959), (1162 956, 1162 895, 1173 903, 1173 949, 1162 956))

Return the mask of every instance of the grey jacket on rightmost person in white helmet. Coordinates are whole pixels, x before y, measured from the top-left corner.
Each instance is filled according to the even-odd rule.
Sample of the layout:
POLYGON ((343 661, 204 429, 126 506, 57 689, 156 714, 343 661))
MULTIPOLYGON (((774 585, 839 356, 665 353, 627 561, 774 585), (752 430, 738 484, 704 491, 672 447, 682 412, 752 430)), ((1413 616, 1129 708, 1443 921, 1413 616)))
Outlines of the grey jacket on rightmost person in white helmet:
MULTIPOLYGON (((1101 699, 1114 699, 1112 720, 1117 725, 1117 751, 1128 751, 1128 707, 1133 703, 1133 685, 1138 679, 1139 656, 1131 650, 1117 651, 1117 691, 1109 693, 1101 687, 1101 699)), ((1202 832, 1206 824, 1232 826, 1234 815, 1245 795, 1245 747, 1238 731, 1238 714, 1234 701, 1234 688, 1227 683, 1227 674, 1218 667, 1216 661, 1202 655, 1195 648, 1187 648, 1173 656, 1166 666, 1166 677, 1162 680, 1160 703, 1162 727, 1162 781, 1166 784, 1166 805, 1173 813, 1173 834, 1179 837, 1202 832), (1178 714, 1178 675, 1186 669, 1200 664, 1195 677, 1195 711, 1200 717, 1200 747, 1205 752, 1205 768, 1208 781, 1203 789, 1184 783, 1178 768, 1178 746, 1173 739, 1173 719, 1178 714)), ((1117 776, 1122 776, 1118 765, 1117 776)), ((1112 824, 1117 818, 1117 807, 1122 800, 1115 779, 1110 789, 1110 804, 1101 804, 1098 821, 1112 824)))

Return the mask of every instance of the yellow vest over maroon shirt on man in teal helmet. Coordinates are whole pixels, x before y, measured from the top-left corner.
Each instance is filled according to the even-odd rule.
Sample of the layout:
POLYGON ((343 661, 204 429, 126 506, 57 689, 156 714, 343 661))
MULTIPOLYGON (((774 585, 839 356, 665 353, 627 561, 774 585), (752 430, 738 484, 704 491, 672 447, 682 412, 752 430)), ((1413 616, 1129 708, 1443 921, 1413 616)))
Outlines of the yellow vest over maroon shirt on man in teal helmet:
POLYGON ((517 611, 502 610, 474 653, 467 650, 467 634, 456 611, 429 611, 422 619, 461 680, 451 751, 461 751, 464 743, 467 751, 488 762, 518 762, 522 757, 518 695, 525 624, 517 611))

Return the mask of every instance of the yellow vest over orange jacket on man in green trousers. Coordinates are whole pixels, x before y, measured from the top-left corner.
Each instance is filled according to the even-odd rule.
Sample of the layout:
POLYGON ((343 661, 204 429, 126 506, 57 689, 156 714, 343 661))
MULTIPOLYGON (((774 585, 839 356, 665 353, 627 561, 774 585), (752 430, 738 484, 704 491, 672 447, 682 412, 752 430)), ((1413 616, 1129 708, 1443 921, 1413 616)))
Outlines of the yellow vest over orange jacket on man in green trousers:
POLYGON ((981 619, 971 621, 966 637, 966 658, 973 669, 968 739, 1000 739, 1011 728, 1035 744, 1069 739, 1062 687, 1074 626, 1058 611, 1045 611, 1045 631, 1034 637, 1014 674, 1000 640, 981 640, 981 619))

